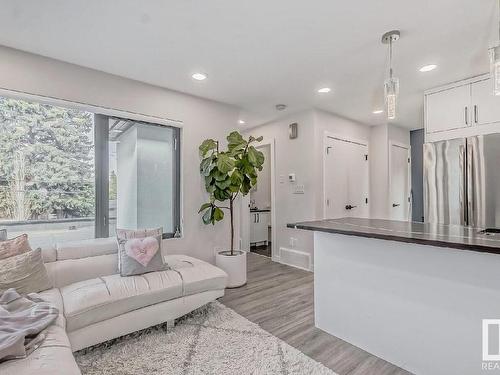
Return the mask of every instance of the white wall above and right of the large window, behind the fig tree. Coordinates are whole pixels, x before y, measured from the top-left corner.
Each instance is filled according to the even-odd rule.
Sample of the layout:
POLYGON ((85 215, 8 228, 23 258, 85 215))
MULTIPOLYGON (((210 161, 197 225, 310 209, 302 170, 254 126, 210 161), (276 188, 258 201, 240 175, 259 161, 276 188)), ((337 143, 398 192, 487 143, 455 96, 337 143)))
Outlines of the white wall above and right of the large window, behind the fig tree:
POLYGON ((164 249, 213 261, 214 247, 229 246, 229 222, 205 226, 197 214, 207 197, 198 145, 205 138, 223 139, 237 123, 237 108, 6 47, 0 47, 0 87, 183 121, 184 238, 166 241, 164 249))

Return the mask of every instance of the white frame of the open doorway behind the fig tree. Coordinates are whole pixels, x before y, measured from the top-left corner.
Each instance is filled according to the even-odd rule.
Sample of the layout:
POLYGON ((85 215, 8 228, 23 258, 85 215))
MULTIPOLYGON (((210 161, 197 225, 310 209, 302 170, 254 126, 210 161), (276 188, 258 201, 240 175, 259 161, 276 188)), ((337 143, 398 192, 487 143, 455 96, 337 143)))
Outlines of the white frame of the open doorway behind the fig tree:
MULTIPOLYGON (((278 244, 276 242, 277 240, 277 234, 276 234, 276 140, 275 138, 264 138, 262 142, 260 142, 258 145, 255 145, 256 149, 262 148, 269 146, 269 155, 271 159, 271 260, 273 261, 279 261, 279 252, 278 252, 278 244)), ((248 199, 250 199, 250 193, 247 195, 248 199)), ((248 199, 240 199, 240 215, 246 215, 249 213, 248 207, 245 207, 246 202, 248 199)), ((242 232, 242 225, 244 223, 247 223, 250 225, 249 221, 246 220, 241 220, 242 216, 240 216, 240 243, 241 243, 241 232, 242 232)), ((250 229, 247 228, 247 229, 250 229)), ((250 230, 246 231, 248 235, 250 236, 250 230)), ((250 240, 250 238, 249 238, 250 240)), ((248 251, 250 252, 250 249, 241 249, 243 251, 248 251)))

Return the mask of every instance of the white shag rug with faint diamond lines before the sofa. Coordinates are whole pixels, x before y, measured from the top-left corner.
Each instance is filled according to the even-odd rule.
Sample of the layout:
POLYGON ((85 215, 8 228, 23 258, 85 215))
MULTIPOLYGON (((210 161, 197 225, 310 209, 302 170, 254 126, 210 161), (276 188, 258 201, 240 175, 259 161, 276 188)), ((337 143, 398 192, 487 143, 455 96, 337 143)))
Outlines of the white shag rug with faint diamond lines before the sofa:
POLYGON ((83 375, 328 374, 333 371, 219 302, 75 353, 83 375))

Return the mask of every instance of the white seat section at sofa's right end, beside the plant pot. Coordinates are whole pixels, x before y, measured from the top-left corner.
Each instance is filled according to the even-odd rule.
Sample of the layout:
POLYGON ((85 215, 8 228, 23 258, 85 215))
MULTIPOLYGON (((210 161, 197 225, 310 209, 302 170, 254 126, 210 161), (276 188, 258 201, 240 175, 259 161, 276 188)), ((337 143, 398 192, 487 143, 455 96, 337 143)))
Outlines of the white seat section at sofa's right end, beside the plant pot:
POLYGON ((187 255, 167 255, 165 260, 182 277, 185 296, 226 287, 227 274, 210 263, 187 255))

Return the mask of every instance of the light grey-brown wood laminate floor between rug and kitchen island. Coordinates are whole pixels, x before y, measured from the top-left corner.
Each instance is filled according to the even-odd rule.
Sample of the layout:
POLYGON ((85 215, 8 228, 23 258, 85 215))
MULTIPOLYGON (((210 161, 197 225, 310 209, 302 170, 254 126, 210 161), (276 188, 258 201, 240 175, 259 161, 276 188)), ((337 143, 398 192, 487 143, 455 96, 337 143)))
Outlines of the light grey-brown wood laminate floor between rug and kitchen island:
POLYGON ((248 282, 221 302, 339 375, 409 372, 314 326, 313 274, 249 253, 248 282))

